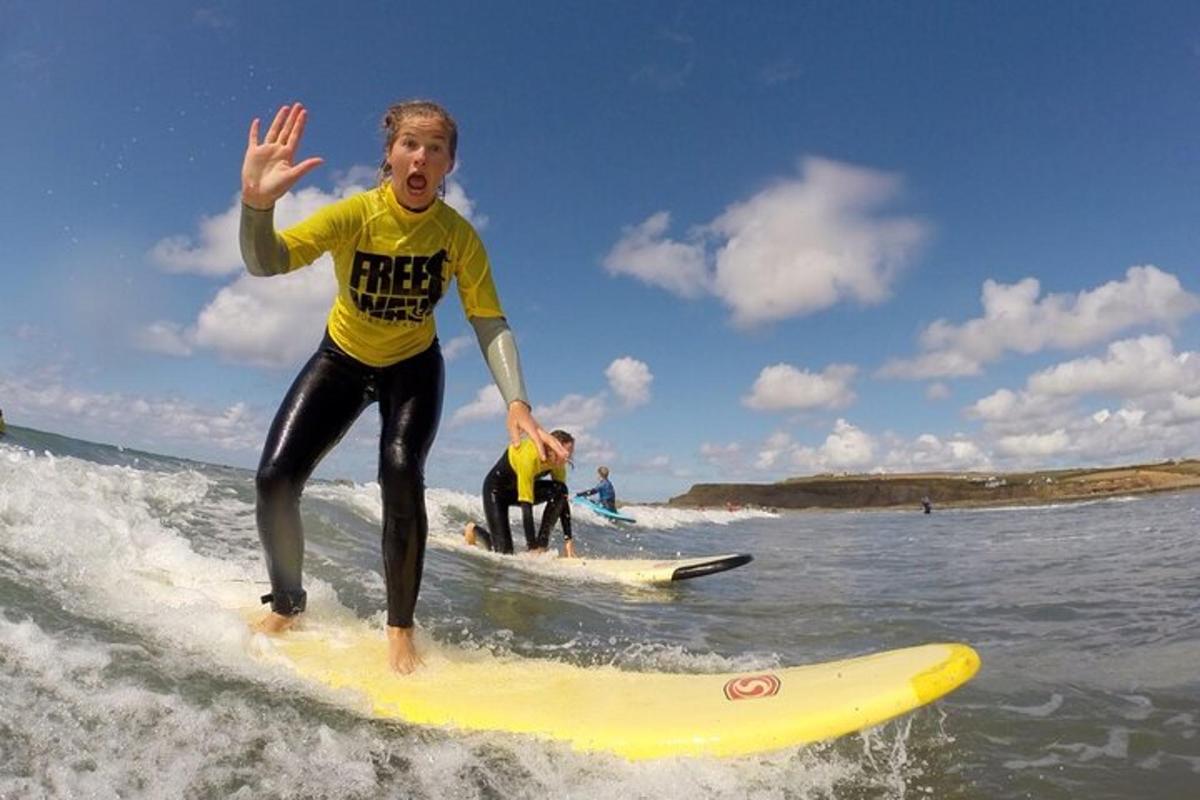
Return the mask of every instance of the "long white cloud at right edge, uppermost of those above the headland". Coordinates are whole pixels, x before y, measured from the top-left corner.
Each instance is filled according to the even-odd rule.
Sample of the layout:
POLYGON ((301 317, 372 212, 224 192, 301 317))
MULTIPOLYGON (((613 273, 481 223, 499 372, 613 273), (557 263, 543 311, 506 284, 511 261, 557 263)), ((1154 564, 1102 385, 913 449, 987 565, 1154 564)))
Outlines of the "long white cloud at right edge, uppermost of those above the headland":
POLYGON ((961 325, 932 323, 920 335, 924 354, 894 359, 880 374, 908 379, 974 375, 1009 351, 1076 349, 1130 327, 1171 326, 1200 311, 1200 297, 1156 266, 1129 267, 1123 281, 1078 295, 1039 297, 1040 291, 1036 278, 1013 284, 985 281, 983 317, 961 325))

